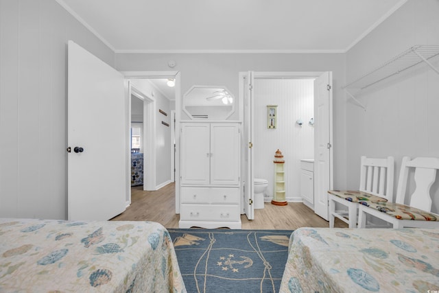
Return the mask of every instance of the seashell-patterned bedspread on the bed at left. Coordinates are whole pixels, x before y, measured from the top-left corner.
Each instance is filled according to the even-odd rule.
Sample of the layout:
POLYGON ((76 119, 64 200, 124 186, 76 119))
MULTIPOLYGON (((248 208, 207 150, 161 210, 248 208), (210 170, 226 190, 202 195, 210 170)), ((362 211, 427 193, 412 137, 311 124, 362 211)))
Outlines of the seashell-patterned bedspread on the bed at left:
POLYGON ((155 222, 0 219, 0 292, 186 292, 155 222))

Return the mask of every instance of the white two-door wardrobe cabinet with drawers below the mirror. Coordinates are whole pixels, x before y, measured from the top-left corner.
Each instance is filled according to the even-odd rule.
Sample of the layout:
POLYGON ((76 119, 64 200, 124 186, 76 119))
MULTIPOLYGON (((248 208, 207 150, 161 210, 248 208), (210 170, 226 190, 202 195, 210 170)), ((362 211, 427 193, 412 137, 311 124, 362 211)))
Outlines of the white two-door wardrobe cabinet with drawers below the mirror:
POLYGON ((182 123, 180 228, 241 228, 236 123, 182 123))

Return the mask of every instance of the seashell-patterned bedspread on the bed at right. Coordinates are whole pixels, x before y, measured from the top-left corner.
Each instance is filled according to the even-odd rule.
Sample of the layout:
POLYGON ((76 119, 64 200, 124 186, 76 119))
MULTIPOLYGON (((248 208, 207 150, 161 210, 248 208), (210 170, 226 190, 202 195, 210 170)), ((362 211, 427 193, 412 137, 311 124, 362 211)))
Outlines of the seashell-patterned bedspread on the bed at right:
POLYGON ((281 292, 435 290, 437 228, 299 228, 290 237, 281 292))

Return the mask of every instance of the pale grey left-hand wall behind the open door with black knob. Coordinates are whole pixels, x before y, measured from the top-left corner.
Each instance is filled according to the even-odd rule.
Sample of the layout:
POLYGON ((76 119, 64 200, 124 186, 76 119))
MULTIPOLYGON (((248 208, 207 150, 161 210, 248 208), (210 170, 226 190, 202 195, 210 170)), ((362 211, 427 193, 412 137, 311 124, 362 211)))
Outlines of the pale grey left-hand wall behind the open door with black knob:
POLYGON ((0 1, 0 217, 67 218, 68 40, 113 65, 56 1, 0 1))

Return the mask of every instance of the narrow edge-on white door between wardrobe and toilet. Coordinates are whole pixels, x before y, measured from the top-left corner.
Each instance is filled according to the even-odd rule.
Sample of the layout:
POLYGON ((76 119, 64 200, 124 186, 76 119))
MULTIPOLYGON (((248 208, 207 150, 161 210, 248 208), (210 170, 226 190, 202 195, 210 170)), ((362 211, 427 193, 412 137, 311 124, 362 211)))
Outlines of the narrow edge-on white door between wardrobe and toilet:
POLYGON ((248 71, 244 78, 244 148, 246 148, 246 181, 244 185, 244 213, 248 220, 254 219, 254 204, 253 204, 253 152, 252 139, 253 132, 253 72, 248 71))

